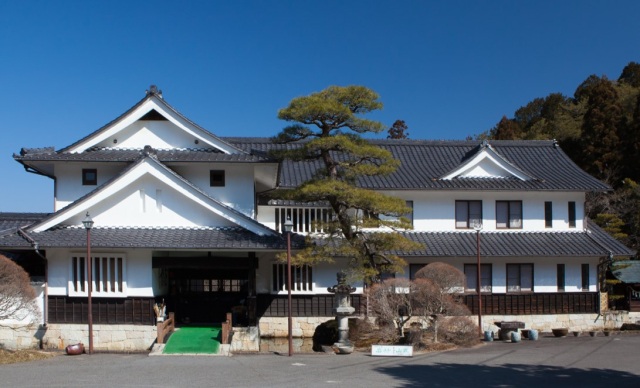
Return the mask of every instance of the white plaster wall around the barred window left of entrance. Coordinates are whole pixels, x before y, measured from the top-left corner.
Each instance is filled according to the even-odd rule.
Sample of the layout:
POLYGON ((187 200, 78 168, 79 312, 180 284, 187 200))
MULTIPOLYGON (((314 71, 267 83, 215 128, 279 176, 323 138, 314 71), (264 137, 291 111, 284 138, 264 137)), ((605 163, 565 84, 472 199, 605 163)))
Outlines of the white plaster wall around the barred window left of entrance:
MULTIPOLYGON (((94 250, 92 255, 115 253, 126 257, 124 282, 126 290, 122 296, 151 297, 153 294, 153 272, 149 250, 94 250)), ((71 257, 84 256, 86 252, 66 249, 47 251, 49 261, 49 295, 68 295, 71 282, 71 257)), ((99 298, 99 295, 95 296, 99 298)))

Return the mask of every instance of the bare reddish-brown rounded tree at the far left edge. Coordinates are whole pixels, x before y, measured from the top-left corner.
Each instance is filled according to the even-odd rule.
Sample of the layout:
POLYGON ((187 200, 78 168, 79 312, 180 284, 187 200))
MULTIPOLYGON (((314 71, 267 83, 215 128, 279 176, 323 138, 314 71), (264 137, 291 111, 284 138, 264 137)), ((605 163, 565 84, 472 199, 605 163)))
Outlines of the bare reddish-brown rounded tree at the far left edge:
POLYGON ((5 320, 19 322, 38 317, 35 297, 29 274, 12 260, 0 255, 0 324, 5 320))

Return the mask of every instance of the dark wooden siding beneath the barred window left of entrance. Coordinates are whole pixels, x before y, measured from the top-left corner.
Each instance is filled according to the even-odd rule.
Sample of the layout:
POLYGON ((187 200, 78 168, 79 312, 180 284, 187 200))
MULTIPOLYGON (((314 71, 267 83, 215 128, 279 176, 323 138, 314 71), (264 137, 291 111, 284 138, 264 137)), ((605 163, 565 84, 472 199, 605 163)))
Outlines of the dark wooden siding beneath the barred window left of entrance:
MULTIPOLYGON (((91 298, 95 324, 155 325, 153 298, 91 298)), ((49 296, 50 323, 87 323, 87 298, 49 296)))

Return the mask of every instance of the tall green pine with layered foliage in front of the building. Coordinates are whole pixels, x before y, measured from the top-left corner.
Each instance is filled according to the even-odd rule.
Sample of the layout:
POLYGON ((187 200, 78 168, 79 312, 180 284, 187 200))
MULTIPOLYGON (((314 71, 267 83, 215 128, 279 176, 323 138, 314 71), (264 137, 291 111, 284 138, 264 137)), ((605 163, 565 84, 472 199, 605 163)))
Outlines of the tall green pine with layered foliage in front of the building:
POLYGON ((323 224, 326 238, 308 239, 307 248, 295 255, 294 262, 314 264, 346 257, 357 275, 369 283, 378 282, 383 272, 402 271, 405 262, 394 252, 421 247, 398 233, 378 229, 411 229, 403 217, 411 211, 404 200, 358 186, 360 178, 387 175, 399 165, 390 152, 359 136, 385 129, 382 123, 360 117, 382 108, 378 98, 363 86, 330 86, 294 98, 278 112, 280 119, 294 124, 273 139, 296 143, 276 153, 278 157, 321 166, 311 180, 274 195, 301 202, 323 201, 333 213, 323 224))

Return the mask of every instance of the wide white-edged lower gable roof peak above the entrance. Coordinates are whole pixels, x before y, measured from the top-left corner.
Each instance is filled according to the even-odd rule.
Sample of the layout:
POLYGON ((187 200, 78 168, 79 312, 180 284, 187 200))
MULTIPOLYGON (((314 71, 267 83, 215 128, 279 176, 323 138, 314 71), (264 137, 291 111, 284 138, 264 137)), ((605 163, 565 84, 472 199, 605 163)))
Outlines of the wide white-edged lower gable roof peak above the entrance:
MULTIPOLYGON (((97 209, 100 203, 110 196, 122 190, 123 187, 144 174, 151 174, 159 178, 168 177, 165 180, 169 186, 174 187, 178 191, 186 195, 189 200, 197 202, 200 206, 205 207, 208 211, 217 214, 219 217, 225 218, 231 223, 247 229, 258 235, 276 235, 272 229, 267 228, 253 218, 219 202, 210 197, 208 194, 200 190, 191 182, 168 168, 166 165, 157 160, 153 149, 146 149, 145 153, 139 160, 124 169, 119 175, 113 177, 108 182, 97 187, 95 190, 79 198, 75 202, 66 206, 40 220, 39 222, 29 226, 29 232, 42 232, 60 225, 81 225, 80 221, 84 217, 85 212, 97 209), (162 176, 160 176, 162 175, 162 176)), ((102 209, 104 211, 104 209, 102 209)), ((95 216, 94 212, 94 216, 95 216)))

